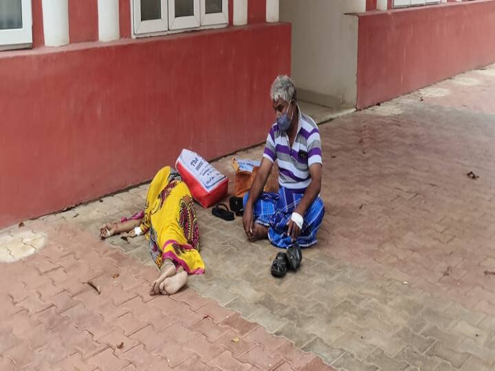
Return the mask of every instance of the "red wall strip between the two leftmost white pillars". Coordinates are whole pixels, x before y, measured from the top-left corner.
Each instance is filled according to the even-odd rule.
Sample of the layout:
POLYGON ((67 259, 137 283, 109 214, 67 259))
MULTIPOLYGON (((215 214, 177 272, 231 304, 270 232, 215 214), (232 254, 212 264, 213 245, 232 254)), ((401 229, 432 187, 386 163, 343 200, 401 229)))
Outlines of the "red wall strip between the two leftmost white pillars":
POLYGON ((69 0, 69 40, 98 40, 98 0, 69 0))

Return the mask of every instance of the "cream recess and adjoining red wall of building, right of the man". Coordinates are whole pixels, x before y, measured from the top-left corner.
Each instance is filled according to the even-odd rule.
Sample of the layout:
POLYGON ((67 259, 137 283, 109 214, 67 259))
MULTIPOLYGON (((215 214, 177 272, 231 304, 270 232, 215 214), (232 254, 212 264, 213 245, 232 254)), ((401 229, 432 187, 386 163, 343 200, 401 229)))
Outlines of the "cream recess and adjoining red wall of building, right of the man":
POLYGON ((358 109, 495 62, 495 1, 281 0, 300 97, 358 109))

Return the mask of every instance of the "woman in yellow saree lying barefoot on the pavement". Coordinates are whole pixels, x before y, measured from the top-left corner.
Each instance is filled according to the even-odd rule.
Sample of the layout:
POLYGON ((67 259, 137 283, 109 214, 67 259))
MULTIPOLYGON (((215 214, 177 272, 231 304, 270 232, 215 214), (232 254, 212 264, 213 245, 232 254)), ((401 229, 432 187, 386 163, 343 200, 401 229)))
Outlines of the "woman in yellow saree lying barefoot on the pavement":
POLYGON ((179 173, 169 166, 151 181, 144 212, 100 228, 102 238, 121 232, 129 232, 129 237, 146 234, 151 257, 160 269, 150 295, 172 295, 186 284, 188 274, 204 273, 192 196, 179 173))

